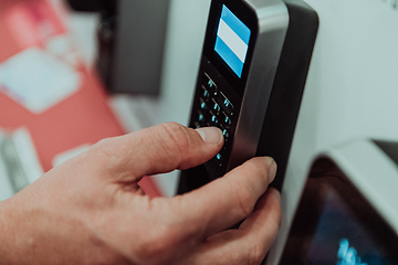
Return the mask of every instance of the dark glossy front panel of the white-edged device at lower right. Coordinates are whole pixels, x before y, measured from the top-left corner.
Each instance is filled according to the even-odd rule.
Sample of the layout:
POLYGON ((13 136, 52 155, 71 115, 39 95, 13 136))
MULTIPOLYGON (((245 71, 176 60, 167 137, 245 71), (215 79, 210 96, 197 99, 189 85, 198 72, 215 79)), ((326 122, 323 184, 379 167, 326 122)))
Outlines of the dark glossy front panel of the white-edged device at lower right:
POLYGON ((334 163, 311 170, 280 265, 398 264, 398 237, 334 163))

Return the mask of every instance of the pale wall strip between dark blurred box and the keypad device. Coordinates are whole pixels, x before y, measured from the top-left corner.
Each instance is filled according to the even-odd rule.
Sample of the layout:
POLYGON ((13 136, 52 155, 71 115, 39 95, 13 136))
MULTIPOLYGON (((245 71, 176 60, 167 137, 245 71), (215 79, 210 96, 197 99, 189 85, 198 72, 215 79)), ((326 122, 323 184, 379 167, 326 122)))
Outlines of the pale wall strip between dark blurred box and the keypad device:
MULTIPOLYGON (((158 123, 188 125, 210 0, 171 0, 158 123)), ((176 192, 178 171, 155 177, 164 194, 176 192)))

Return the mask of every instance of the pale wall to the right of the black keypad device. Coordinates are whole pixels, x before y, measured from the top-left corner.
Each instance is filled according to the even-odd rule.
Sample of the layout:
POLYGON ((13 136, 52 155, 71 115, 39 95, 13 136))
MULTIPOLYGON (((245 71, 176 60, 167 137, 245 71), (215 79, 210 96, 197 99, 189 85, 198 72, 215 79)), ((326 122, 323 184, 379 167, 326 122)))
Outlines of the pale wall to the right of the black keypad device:
POLYGON ((398 140, 398 9, 390 0, 307 3, 321 24, 283 188, 282 230, 268 264, 282 251, 316 153, 356 138, 398 140))

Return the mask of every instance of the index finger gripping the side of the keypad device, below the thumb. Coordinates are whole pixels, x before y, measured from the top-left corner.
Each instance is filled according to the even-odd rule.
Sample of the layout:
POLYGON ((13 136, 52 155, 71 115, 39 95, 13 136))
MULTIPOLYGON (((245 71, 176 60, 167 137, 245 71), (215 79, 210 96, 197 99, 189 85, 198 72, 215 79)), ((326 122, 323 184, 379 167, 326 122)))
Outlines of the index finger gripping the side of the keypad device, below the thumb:
MULTIPOLYGON (((199 236, 208 237, 231 227, 254 209, 276 173, 272 158, 253 158, 224 177, 190 193, 175 198, 181 209, 186 227, 199 229, 199 236)), ((195 234, 195 231, 187 231, 195 234)), ((198 231, 197 231, 198 232, 198 231)))

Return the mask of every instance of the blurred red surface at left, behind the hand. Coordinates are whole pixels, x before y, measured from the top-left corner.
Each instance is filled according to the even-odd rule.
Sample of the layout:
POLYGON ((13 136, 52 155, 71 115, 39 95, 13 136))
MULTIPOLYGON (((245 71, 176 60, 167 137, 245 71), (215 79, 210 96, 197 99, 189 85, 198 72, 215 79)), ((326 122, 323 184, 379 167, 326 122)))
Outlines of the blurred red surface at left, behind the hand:
MULTIPOLYGON (((29 47, 45 50, 52 39, 67 33, 46 0, 13 0, 0 6, 0 65, 29 47)), ((96 74, 78 57, 71 66, 80 73, 78 89, 41 114, 31 113, 0 91, 0 127, 27 127, 45 171, 52 168, 57 153, 125 132, 108 106, 96 74)), ((148 195, 160 195, 150 178, 145 178, 140 186, 148 195)))

